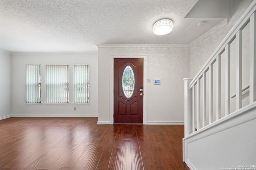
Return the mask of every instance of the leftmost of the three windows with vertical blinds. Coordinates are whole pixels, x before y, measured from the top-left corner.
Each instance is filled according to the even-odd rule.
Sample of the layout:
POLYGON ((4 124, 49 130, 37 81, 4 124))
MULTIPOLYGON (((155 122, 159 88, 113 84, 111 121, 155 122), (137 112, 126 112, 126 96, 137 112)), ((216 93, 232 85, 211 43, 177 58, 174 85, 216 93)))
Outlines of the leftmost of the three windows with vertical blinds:
POLYGON ((41 103, 41 64, 26 64, 26 103, 41 103))

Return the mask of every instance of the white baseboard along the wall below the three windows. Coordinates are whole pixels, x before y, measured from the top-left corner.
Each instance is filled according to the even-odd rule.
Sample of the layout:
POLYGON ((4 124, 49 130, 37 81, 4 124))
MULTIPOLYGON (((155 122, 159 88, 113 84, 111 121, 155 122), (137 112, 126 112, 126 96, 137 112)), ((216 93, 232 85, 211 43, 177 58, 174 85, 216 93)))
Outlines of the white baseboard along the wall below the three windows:
POLYGON ((98 115, 11 115, 11 117, 98 117, 98 115))

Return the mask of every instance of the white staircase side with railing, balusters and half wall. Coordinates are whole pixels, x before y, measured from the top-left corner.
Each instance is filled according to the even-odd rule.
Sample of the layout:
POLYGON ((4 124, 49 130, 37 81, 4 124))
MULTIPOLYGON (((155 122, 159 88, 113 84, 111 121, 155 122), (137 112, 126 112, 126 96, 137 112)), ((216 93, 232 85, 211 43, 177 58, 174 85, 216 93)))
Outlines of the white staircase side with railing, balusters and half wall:
POLYGON ((256 170, 256 0, 196 76, 184 78, 184 94, 188 167, 256 170), (246 29, 248 39, 243 38, 246 29))

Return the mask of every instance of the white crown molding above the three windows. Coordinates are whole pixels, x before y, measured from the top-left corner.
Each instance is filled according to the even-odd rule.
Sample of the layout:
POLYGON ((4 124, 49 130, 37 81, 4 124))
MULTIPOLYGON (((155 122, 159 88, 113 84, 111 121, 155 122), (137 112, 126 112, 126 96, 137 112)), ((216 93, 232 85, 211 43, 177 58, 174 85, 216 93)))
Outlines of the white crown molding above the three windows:
POLYGON ((98 52, 12 52, 11 55, 98 55, 98 52))

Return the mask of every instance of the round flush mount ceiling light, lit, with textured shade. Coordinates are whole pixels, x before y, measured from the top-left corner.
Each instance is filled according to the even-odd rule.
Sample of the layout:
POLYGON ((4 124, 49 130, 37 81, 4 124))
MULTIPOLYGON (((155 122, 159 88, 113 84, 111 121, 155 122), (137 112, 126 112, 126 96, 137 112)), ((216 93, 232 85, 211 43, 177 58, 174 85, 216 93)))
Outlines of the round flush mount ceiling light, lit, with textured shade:
POLYGON ((165 18, 162 20, 156 21, 153 25, 153 32, 156 35, 165 35, 172 31, 173 22, 171 19, 165 18))

